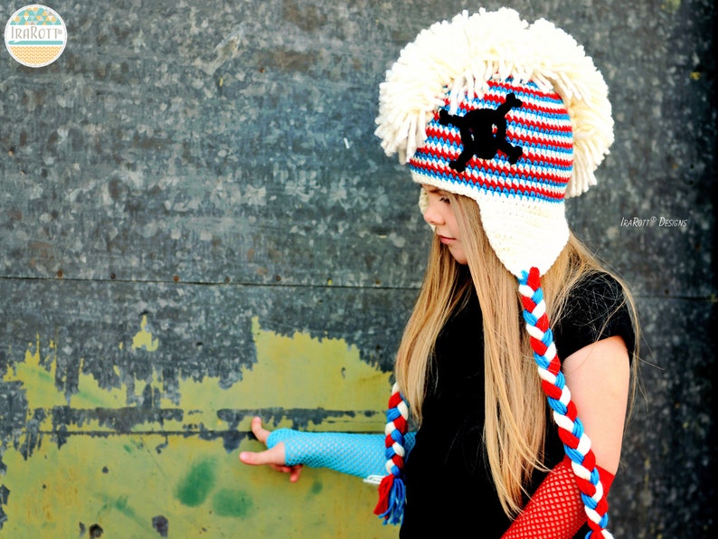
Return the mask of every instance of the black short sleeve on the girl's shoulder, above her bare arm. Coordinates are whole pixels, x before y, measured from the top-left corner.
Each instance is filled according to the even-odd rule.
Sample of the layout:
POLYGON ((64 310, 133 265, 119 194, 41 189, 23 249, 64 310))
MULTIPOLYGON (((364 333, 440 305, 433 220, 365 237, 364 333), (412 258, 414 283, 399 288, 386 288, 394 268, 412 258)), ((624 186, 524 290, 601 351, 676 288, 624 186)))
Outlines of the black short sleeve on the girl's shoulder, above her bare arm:
POLYGON ((632 355, 636 346, 623 288, 607 273, 591 274, 569 291, 553 333, 561 359, 611 336, 624 340, 628 355, 632 355))

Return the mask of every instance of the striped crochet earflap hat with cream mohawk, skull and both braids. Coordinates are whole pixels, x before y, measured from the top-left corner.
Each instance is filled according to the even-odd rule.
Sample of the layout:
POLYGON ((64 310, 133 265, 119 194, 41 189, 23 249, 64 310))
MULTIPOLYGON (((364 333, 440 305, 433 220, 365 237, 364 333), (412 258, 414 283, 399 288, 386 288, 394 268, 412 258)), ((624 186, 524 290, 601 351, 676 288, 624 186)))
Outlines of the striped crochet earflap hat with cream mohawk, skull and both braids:
MULTIPOLYGON (((605 81, 553 24, 481 9, 433 24, 408 44, 380 86, 379 105, 376 135, 386 154, 398 154, 414 182, 476 200, 491 247, 518 278, 543 391, 589 525, 609 537, 603 487, 563 381, 540 279, 569 239, 564 199, 596 184, 593 172, 613 142, 605 81)), ((401 520, 407 417, 395 385, 375 510, 385 522, 401 520)))

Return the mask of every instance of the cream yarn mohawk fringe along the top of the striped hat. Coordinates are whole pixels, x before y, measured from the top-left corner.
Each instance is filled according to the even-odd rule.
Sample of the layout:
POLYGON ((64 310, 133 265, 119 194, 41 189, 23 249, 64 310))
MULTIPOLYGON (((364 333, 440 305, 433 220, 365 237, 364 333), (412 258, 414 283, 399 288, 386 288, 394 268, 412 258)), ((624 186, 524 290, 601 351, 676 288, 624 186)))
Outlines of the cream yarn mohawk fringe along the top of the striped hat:
POLYGON ((573 127, 573 174, 566 197, 596 184, 593 172, 613 143, 609 89, 593 61, 568 33, 540 19, 529 25, 509 8, 463 12, 423 30, 379 87, 375 134, 387 156, 409 161, 427 124, 449 94, 449 113, 480 97, 488 80, 529 80, 563 99, 573 127))

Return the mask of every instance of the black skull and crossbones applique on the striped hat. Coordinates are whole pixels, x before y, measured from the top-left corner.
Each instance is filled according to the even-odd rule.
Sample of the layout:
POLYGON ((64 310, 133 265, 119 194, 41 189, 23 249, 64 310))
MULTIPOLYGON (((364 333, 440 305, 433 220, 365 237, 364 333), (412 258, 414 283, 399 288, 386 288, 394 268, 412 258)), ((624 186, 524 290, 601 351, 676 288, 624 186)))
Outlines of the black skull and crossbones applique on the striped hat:
POLYGON ((464 147, 457 159, 449 161, 449 166, 457 172, 464 172, 473 156, 493 159, 498 150, 504 152, 508 162, 514 165, 524 150, 506 140, 505 116, 509 110, 521 105, 521 100, 510 93, 498 109, 469 110, 464 116, 454 116, 446 109, 439 110, 439 123, 457 127, 464 147))

